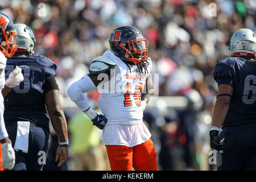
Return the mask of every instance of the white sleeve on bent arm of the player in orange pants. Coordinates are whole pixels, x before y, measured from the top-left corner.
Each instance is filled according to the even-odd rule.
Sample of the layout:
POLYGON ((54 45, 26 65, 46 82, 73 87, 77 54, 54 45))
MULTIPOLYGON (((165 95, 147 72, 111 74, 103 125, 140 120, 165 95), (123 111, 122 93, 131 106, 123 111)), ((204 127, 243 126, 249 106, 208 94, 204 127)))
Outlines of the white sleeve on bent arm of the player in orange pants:
MULTIPOLYGON (((88 101, 84 96, 84 93, 89 92, 94 88, 96 88, 96 86, 94 85, 93 81, 90 79, 89 76, 86 75, 82 77, 79 81, 76 81, 71 86, 69 86, 67 93, 71 100, 75 102, 77 107, 79 107, 79 109, 84 112, 90 107, 88 101)), ((92 117, 90 117, 89 115, 88 117, 92 119, 92 117)))

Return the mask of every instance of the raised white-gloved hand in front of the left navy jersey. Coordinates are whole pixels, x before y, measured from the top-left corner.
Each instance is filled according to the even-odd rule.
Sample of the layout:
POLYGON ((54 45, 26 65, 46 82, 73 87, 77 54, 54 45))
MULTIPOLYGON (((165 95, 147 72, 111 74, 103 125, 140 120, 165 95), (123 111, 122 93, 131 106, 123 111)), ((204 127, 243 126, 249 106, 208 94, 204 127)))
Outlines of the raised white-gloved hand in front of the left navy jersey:
POLYGON ((16 66, 13 72, 10 73, 8 79, 6 80, 6 86, 9 88, 14 88, 15 86, 19 85, 20 82, 24 80, 22 75, 22 69, 16 66))

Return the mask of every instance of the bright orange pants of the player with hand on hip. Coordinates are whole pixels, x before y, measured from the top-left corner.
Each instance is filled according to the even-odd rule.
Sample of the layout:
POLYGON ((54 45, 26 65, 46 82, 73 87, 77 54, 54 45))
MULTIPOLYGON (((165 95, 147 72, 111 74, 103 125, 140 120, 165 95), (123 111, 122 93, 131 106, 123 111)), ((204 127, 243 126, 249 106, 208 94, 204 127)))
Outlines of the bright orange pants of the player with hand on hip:
POLYGON ((134 147, 106 145, 112 171, 157 171, 156 151, 151 139, 134 147))

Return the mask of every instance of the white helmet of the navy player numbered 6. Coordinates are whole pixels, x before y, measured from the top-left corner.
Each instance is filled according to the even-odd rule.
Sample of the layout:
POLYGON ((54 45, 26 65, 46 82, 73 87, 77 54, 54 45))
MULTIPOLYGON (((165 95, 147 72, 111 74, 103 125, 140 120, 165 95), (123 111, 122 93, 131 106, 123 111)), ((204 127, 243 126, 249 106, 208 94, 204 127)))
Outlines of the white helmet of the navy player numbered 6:
POLYGON ((249 28, 236 31, 230 40, 232 56, 256 56, 256 34, 249 28))

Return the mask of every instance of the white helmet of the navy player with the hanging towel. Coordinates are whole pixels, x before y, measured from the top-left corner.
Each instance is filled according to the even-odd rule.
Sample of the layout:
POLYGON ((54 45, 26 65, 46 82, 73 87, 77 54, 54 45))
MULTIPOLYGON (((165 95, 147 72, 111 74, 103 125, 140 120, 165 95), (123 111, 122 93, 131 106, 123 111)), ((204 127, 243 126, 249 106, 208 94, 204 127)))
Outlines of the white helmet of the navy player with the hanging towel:
POLYGON ((17 52, 28 52, 28 55, 34 55, 36 39, 31 28, 23 23, 15 23, 14 29, 17 31, 17 52))

